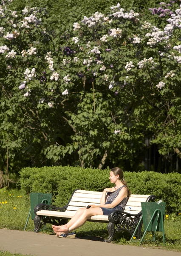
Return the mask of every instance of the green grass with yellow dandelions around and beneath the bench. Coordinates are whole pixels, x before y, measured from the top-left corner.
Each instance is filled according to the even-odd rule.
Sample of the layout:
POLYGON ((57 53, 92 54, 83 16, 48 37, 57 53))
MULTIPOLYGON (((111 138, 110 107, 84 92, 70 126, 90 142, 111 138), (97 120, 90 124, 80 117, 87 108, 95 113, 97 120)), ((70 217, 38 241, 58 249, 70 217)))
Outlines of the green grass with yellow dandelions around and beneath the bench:
MULTIPOLYGON (((11 230, 24 230, 26 219, 30 210, 30 198, 18 189, 0 189, 0 228, 11 230)), ((51 225, 46 227, 51 228, 51 225)), ((31 217, 28 221, 27 230, 34 229, 34 223, 31 217)), ((181 251, 181 215, 166 214, 164 220, 165 246, 162 243, 162 233, 156 233, 157 242, 144 242, 144 246, 163 248, 167 250, 181 251)), ((43 231, 48 232, 48 231, 43 231)), ((51 232, 50 232, 51 233, 51 232)), ((77 237, 103 240, 107 238, 107 224, 86 222, 86 224, 76 230, 77 237)), ((147 233, 145 239, 151 238, 151 233, 147 233)), ((116 244, 129 244, 130 236, 127 233, 117 233, 113 239, 116 244)), ((131 243, 139 245, 139 243, 131 243)), ((8 252, 0 251, 0 256, 11 256, 8 252), (4 253, 4 254, 3 254, 4 253)), ((20 254, 17 254, 20 255, 20 254)))

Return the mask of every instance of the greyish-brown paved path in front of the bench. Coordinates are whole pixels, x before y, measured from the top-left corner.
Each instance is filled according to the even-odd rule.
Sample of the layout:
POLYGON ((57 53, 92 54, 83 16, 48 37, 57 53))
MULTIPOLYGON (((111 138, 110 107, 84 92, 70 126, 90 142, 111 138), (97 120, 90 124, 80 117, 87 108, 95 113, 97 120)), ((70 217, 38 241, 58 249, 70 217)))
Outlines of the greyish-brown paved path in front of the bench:
POLYGON ((0 229, 0 250, 34 256, 181 256, 180 252, 0 229), (120 254, 118 254, 120 253, 120 254))

